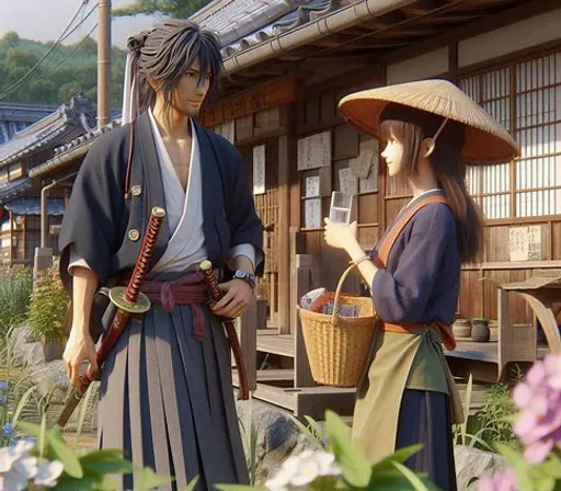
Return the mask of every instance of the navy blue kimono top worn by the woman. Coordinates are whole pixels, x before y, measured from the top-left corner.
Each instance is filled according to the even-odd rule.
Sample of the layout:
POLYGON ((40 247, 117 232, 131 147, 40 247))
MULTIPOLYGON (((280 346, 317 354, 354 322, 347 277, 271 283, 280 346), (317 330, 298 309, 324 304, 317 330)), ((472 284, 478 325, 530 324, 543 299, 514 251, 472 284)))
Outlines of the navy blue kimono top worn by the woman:
MULTIPOLYGON (((444 195, 440 191, 427 194, 444 195)), ((440 203, 423 207, 397 238, 387 269, 378 270, 374 276, 376 312, 386 322, 404 326, 454 322, 460 265, 456 219, 450 208, 440 203)))

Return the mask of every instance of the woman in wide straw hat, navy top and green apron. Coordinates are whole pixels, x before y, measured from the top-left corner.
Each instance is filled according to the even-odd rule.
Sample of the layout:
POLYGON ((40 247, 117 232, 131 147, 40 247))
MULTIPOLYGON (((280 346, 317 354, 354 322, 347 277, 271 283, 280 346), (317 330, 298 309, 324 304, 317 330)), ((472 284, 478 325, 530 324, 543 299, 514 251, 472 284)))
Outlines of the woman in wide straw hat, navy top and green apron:
POLYGON ((408 466, 440 489, 455 490, 451 424, 461 421, 461 407, 440 343, 455 346, 449 324, 460 265, 474 260, 482 243, 482 219, 466 187, 463 162, 508 160, 516 144, 443 80, 352 94, 340 109, 387 141, 381 156, 388 174, 405 175, 413 192, 371 258, 356 240, 356 224, 325 219, 327 242, 346 250, 371 285, 379 318, 358 387, 353 442, 373 463, 422 444, 408 466))

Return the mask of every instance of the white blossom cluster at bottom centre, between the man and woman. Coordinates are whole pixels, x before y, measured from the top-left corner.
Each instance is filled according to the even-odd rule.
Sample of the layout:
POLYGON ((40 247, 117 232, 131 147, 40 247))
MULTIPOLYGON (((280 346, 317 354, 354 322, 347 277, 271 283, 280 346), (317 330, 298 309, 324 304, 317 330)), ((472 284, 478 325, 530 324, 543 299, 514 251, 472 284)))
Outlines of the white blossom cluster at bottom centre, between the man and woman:
POLYGON ((265 482, 265 487, 272 491, 304 490, 318 478, 340 475, 341 469, 333 454, 305 450, 288 457, 276 476, 265 482))

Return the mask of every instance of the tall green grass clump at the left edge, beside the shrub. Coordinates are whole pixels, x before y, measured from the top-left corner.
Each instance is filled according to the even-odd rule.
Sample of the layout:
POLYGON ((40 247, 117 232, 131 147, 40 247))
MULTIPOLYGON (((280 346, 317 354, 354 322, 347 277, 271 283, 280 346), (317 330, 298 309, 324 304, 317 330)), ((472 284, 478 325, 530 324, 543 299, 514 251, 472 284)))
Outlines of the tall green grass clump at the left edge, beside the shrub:
POLYGON ((11 326, 22 323, 30 317, 33 292, 31 267, 15 266, 0 271, 0 338, 11 326))

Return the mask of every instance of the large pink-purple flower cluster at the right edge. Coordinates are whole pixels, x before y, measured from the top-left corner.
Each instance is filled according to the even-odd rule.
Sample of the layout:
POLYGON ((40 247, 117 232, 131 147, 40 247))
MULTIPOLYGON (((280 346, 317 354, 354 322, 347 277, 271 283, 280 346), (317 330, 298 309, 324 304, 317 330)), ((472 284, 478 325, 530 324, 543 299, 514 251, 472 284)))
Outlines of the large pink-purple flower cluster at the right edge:
POLYGON ((513 400, 520 410, 513 431, 526 447, 524 457, 539 464, 553 447, 561 449, 561 355, 535 363, 513 400))

